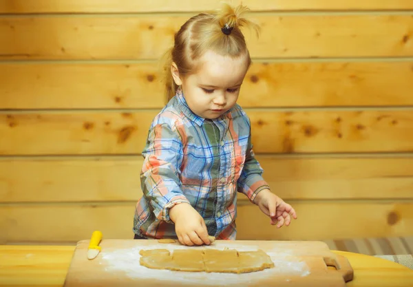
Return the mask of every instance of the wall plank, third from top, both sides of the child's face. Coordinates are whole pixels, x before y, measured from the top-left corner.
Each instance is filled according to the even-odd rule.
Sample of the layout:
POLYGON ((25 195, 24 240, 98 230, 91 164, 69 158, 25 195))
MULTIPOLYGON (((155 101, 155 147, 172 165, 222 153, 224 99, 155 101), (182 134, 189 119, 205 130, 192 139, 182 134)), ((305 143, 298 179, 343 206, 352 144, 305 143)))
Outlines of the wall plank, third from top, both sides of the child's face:
MULTIPOLYGON (((413 62, 254 63, 243 107, 413 105, 413 62), (253 96, 252 96, 253 95, 253 96)), ((1 109, 161 108, 158 63, 0 64, 1 109)))

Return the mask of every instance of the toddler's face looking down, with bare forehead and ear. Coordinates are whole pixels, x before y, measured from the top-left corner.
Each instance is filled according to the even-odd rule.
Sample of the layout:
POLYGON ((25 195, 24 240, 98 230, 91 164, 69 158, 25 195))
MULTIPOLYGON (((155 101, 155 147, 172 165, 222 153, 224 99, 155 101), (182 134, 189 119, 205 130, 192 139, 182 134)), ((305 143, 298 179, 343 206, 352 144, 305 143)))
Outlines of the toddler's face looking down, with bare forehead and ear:
POLYGON ((235 105, 247 70, 246 55, 232 59, 208 51, 199 59, 195 73, 178 76, 178 79, 177 74, 173 74, 173 78, 182 85, 185 100, 193 113, 213 119, 235 105))

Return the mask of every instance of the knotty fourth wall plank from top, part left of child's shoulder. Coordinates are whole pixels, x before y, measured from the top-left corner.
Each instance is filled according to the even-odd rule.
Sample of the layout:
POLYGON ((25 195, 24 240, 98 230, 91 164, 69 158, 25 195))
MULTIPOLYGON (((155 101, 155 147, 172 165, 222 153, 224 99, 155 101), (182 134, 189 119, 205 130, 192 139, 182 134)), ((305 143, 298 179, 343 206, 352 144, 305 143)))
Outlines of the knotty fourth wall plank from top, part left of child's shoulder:
POLYGON ((140 153, 156 113, 2 114, 0 154, 140 153))

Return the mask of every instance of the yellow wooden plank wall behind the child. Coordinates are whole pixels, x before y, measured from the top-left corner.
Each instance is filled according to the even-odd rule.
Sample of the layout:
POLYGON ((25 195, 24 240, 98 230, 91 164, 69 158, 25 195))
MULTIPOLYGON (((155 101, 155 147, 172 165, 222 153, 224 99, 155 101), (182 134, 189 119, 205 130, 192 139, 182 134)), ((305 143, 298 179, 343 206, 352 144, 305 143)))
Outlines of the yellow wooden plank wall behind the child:
MULTIPOLYGON (((0 2, 0 241, 131 238, 158 56, 219 1, 0 2)), ((413 1, 246 0, 240 104, 277 230, 240 195, 238 239, 413 235, 413 1)))

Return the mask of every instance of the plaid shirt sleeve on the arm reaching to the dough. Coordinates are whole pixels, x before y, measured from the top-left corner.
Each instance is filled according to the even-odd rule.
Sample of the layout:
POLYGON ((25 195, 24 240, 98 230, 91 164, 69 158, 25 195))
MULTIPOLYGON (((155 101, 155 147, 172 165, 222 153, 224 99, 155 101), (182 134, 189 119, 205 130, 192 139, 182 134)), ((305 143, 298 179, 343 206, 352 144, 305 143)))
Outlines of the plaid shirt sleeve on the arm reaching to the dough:
POLYGON ((153 125, 142 156, 143 195, 156 218, 171 223, 169 210, 176 204, 189 203, 181 190, 182 140, 176 128, 165 123, 153 125))

